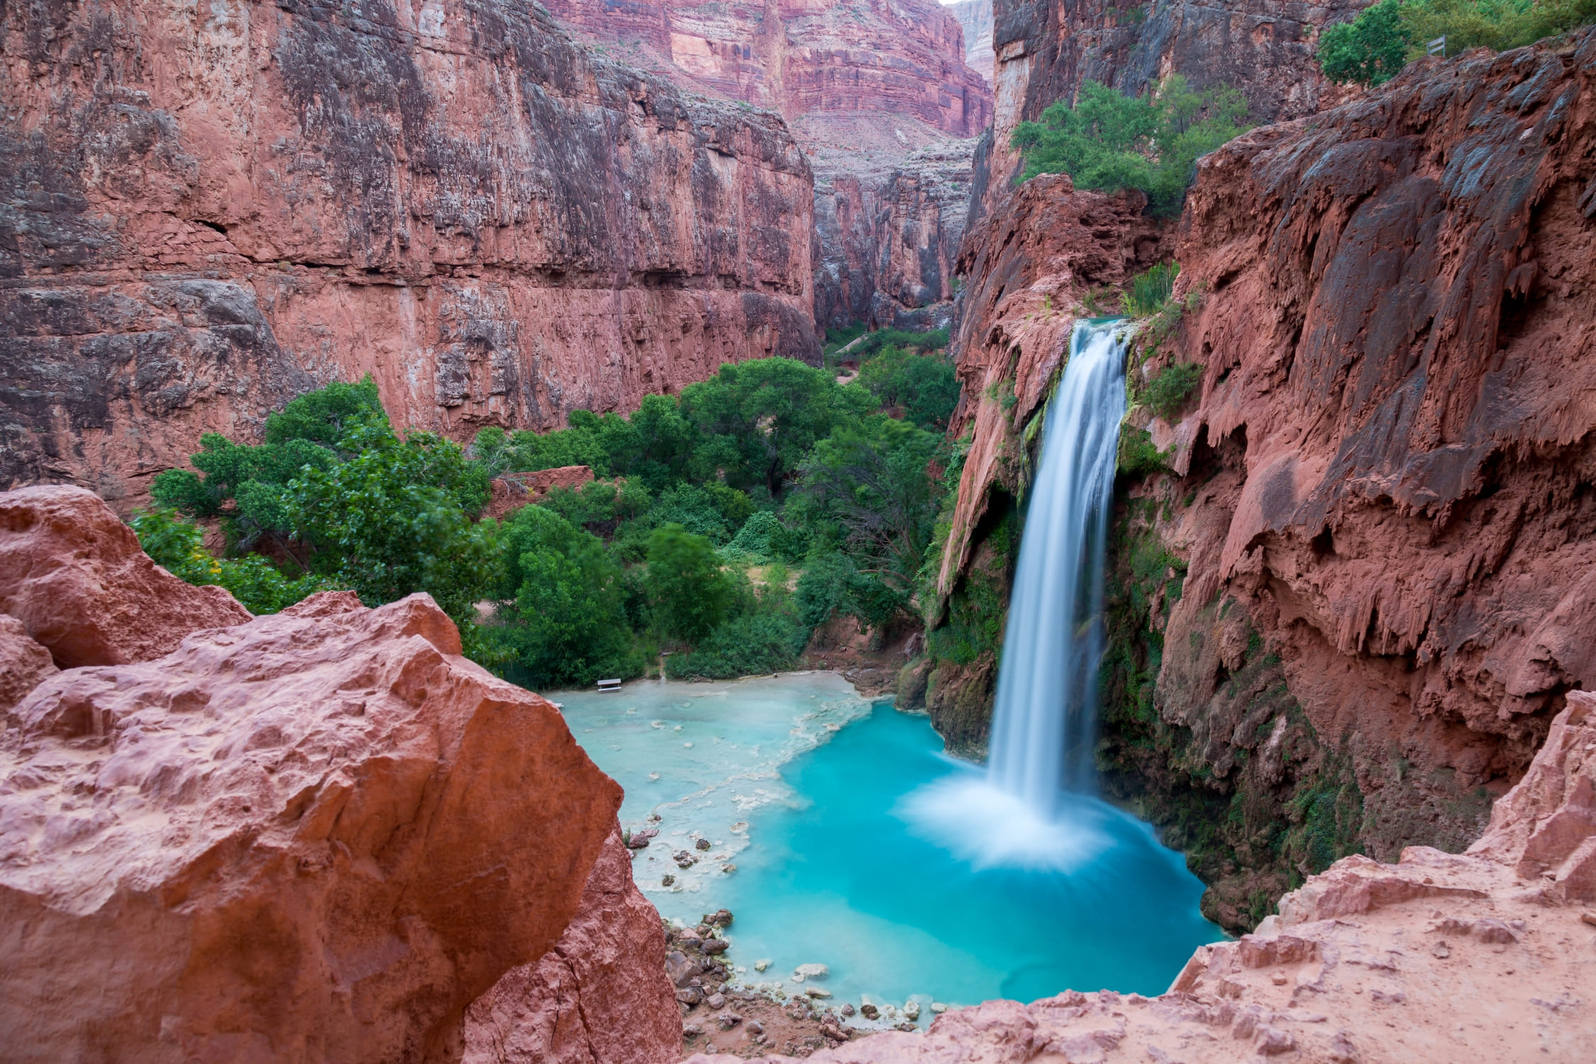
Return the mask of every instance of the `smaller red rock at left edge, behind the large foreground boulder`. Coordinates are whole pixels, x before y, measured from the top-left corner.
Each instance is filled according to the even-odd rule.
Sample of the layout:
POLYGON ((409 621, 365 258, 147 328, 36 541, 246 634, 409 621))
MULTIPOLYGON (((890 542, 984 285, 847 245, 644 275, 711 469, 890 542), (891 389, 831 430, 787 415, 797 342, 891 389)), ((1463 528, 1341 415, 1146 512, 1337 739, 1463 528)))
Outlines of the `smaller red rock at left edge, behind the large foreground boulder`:
POLYGON ((0 495, 0 613, 61 668, 147 662, 251 616, 155 565, 99 496, 64 485, 0 495))

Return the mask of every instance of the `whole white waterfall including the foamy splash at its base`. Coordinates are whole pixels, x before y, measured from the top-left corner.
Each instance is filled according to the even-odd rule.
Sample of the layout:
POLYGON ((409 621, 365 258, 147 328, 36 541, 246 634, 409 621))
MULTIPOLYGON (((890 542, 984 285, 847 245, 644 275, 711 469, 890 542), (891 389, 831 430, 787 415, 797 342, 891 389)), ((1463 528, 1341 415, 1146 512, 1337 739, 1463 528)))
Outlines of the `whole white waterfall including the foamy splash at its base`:
POLYGON ((1109 845, 1092 826, 1101 809, 1084 793, 1093 790, 1125 345, 1117 319, 1076 322, 1069 337, 1025 518, 986 778, 950 778, 900 804, 916 831, 975 868, 1069 871, 1109 845))

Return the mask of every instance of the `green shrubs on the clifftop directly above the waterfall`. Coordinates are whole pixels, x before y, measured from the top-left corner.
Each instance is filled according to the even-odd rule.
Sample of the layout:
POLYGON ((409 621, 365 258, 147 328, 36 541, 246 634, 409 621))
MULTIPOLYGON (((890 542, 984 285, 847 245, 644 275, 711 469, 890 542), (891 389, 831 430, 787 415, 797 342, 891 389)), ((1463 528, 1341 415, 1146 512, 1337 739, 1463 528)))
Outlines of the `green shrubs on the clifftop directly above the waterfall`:
POLYGON ((1175 214, 1197 158, 1243 132, 1245 118, 1240 93, 1194 93, 1178 73, 1146 97, 1087 81, 1074 107, 1060 100, 1015 126, 1013 145, 1025 152, 1026 179, 1069 174, 1076 188, 1136 188, 1154 214, 1175 214))

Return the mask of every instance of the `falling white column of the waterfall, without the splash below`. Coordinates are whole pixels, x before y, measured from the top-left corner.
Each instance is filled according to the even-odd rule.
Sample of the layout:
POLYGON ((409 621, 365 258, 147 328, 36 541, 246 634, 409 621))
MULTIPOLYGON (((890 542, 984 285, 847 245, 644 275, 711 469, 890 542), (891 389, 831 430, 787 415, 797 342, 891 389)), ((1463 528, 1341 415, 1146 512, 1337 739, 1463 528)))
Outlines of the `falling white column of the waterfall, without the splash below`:
POLYGON ((1047 407, 998 670, 988 778, 1053 812, 1060 790, 1092 788, 1103 566, 1125 343, 1117 321, 1076 322, 1047 407))

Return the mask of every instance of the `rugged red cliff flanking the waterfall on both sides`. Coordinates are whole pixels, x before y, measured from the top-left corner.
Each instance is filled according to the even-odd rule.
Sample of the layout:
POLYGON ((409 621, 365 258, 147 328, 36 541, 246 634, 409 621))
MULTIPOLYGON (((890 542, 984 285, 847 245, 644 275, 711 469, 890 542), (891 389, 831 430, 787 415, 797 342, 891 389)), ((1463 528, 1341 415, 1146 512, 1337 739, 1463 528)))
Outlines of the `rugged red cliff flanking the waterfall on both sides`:
MULTIPOLYGON (((1227 927, 1349 852, 1465 847, 1567 691, 1596 686, 1593 78, 1588 33, 1424 61, 1199 166, 1173 255, 1187 309, 1130 391, 1171 364, 1200 378, 1171 423, 1133 408, 1122 443, 1098 763, 1227 927)), ((954 633, 1007 597, 1025 416, 1066 335, 1041 311, 1092 313, 1154 239, 1104 225, 1125 266, 1090 276, 1005 247, 1036 201, 1095 203, 1063 180, 990 193, 961 258, 954 633)), ((927 700, 978 750, 990 678, 938 668, 927 700)))

